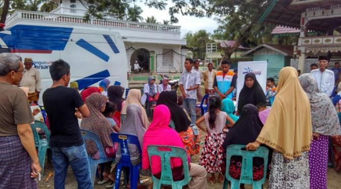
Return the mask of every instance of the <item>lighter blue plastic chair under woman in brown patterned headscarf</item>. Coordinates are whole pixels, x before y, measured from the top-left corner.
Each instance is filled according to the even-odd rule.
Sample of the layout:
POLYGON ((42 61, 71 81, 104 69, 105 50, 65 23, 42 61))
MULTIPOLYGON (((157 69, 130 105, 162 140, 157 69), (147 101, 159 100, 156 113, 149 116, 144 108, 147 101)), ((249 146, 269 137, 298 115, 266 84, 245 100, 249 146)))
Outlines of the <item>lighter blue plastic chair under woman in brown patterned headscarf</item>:
POLYGON ((91 155, 88 156, 89 164, 90 164, 90 172, 91 172, 91 182, 92 182, 92 185, 94 185, 98 164, 115 161, 115 158, 107 158, 105 156, 104 148, 101 143, 101 140, 95 133, 85 130, 85 129, 81 129, 81 133, 82 133, 84 142, 86 142, 86 140, 92 140, 96 143, 96 147, 99 153, 99 157, 100 157, 99 160, 94 160, 91 157, 91 155))

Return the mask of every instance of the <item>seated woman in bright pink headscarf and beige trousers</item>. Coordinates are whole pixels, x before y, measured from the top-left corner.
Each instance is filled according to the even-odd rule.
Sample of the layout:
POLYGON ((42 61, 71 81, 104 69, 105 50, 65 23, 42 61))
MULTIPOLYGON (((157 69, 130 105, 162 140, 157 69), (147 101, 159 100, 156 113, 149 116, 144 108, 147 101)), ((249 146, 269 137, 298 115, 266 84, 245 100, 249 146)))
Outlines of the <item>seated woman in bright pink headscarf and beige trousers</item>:
MULTIPOLYGON (((159 156, 153 156, 151 159, 148 157, 147 146, 149 145, 170 145, 184 148, 182 140, 179 134, 172 128, 169 127, 169 122, 171 119, 170 111, 165 105, 158 105, 154 109, 153 113, 154 120, 151 122, 149 128, 143 137, 143 147, 142 147, 142 169, 147 170, 151 165, 151 174, 157 178, 161 177, 161 158, 159 156), (165 138, 167 140, 165 140, 165 138)), ((182 167, 190 167, 190 175, 192 180, 188 183, 188 188, 190 189, 207 189, 206 180, 206 170, 204 167, 192 164, 190 156, 188 156, 188 164, 183 165, 180 158, 171 158, 171 168, 174 180, 182 179, 182 167)))

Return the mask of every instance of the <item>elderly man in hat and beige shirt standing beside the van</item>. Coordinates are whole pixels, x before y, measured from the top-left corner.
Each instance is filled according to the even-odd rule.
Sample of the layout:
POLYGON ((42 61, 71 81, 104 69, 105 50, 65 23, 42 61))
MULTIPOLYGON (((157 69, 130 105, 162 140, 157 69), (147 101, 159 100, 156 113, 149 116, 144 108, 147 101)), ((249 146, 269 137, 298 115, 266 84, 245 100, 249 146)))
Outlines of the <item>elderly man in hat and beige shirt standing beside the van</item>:
POLYGON ((32 67, 32 58, 25 58, 24 65, 24 76, 20 82, 20 86, 28 87, 28 101, 36 103, 39 100, 39 93, 42 90, 40 72, 32 67))

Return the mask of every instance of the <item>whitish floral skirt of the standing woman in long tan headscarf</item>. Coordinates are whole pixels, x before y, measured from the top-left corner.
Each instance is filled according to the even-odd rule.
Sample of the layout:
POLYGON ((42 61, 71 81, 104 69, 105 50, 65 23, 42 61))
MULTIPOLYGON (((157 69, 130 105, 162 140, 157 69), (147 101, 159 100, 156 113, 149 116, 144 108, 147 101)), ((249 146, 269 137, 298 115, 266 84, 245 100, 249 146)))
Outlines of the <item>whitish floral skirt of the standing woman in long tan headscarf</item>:
POLYGON ((272 155, 269 189, 307 189, 310 188, 309 153, 289 160, 283 154, 272 155))

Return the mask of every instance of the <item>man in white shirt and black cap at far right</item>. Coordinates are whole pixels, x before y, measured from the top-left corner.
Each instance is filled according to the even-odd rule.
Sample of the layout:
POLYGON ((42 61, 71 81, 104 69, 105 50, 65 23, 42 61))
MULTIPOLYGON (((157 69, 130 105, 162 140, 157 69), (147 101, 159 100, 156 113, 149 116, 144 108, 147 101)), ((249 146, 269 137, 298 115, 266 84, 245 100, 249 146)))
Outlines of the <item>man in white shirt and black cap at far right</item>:
POLYGON ((334 90, 335 77, 334 72, 327 69, 328 60, 326 56, 319 57, 319 69, 314 69, 311 74, 315 78, 320 92, 331 96, 334 90))

